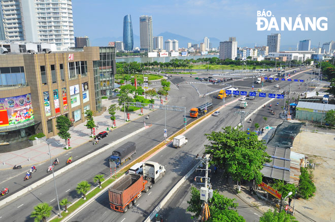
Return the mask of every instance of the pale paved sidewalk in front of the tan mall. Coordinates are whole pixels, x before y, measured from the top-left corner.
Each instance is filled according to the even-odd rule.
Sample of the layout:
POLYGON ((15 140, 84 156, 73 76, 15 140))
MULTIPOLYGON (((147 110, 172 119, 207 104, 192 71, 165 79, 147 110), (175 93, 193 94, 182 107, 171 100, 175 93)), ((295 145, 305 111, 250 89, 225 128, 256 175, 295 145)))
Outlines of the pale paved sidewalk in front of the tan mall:
MULTIPOLYGON (((168 96, 168 102, 170 97, 168 96)), ((159 103, 159 98, 155 98, 155 103, 159 103)), ((117 99, 113 100, 103 100, 103 106, 107 107, 107 110, 101 115, 94 117, 94 122, 98 126, 97 132, 107 131, 107 127, 112 126, 112 121, 110 119, 110 114, 108 113, 108 107, 111 104, 118 104, 117 99)), ((166 104, 165 100, 163 99, 163 104, 166 104)), ((143 108, 143 115, 147 115, 151 111, 149 109, 143 108)), ((130 121, 136 120, 142 116, 139 116, 141 113, 141 109, 136 110, 135 112, 129 112, 130 114, 130 121)), ((116 126, 121 127, 129 122, 124 122, 124 113, 120 110, 116 111, 116 126)), ((86 143, 92 138, 90 138, 91 130, 87 129, 84 125, 86 122, 75 126, 74 129, 69 130, 71 134, 70 139, 70 146, 72 149, 86 143)), ((109 132, 109 131, 108 131, 109 132)), ((50 152, 52 158, 55 158, 62 153, 69 152, 70 150, 66 151, 63 149, 65 147, 64 140, 59 138, 59 136, 53 136, 47 139, 50 142, 50 152), (58 144, 57 144, 58 143, 58 144)), ((72 151, 71 149, 71 151, 72 151)), ((0 154, 0 170, 4 169, 12 169, 14 165, 22 165, 24 166, 31 166, 33 164, 43 163, 49 160, 49 150, 48 145, 45 142, 42 142, 37 145, 33 145, 27 147, 22 150, 13 151, 9 153, 0 154)))

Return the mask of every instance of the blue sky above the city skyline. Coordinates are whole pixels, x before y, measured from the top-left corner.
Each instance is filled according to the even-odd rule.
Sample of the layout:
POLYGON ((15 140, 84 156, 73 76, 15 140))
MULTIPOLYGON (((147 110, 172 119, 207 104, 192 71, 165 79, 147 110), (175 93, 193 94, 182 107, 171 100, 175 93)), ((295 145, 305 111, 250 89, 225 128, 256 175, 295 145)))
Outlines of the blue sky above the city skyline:
MULTIPOLYGON (((266 45, 266 36, 281 33, 281 45, 296 45, 299 40, 310 39, 320 46, 335 41, 334 0, 281 0, 281 1, 227 1, 227 0, 73 0, 75 36, 87 35, 90 40, 123 34, 123 17, 131 15, 133 33, 140 35, 139 17, 152 16, 153 35, 172 32, 201 40, 204 36, 221 41, 236 36, 238 45, 266 45), (305 24, 305 17, 326 17, 328 30, 301 31, 257 30, 257 11, 271 11, 281 28, 281 17, 292 18, 292 26, 298 15, 305 24)), ((270 18, 266 17, 270 22, 270 18)), ((323 21, 325 22, 325 21, 323 21)))

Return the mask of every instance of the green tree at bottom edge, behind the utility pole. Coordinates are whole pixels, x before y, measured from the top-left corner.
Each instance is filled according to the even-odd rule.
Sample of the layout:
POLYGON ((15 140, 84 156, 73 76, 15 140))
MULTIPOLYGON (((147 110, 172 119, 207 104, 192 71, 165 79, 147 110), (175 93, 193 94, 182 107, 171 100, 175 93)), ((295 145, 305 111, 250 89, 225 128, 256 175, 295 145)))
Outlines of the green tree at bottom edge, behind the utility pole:
MULTIPOLYGON (((234 203, 235 199, 229 199, 220 195, 219 192, 213 192, 213 198, 209 199, 208 206, 210 208, 211 217, 207 221, 222 222, 222 221, 236 221, 244 222, 245 219, 240 216, 236 210, 231 208, 236 208, 239 206, 238 203, 234 203)), ((191 199, 187 201, 188 207, 187 211, 195 214, 198 217, 202 212, 202 201, 200 200, 200 192, 192 187, 191 188, 191 199)))

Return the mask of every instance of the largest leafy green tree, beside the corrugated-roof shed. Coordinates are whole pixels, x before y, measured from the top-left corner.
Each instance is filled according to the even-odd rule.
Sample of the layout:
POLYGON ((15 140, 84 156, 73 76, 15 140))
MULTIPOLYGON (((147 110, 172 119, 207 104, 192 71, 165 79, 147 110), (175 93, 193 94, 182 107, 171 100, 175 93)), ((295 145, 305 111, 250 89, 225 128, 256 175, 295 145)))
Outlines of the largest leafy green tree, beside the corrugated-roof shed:
POLYGON ((254 132, 247 134, 230 126, 222 129, 223 132, 205 134, 210 141, 205 147, 206 154, 212 155, 211 163, 226 169, 226 173, 236 181, 255 179, 259 184, 263 164, 271 161, 265 152, 265 141, 258 140, 254 132))

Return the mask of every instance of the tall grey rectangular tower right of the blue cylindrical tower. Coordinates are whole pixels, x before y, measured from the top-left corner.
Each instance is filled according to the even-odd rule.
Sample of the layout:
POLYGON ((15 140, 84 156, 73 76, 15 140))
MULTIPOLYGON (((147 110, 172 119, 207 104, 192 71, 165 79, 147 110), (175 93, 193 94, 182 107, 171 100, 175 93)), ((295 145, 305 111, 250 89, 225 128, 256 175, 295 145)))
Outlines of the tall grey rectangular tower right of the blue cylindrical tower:
POLYGON ((152 52, 152 17, 140 16, 140 47, 141 51, 152 52))

